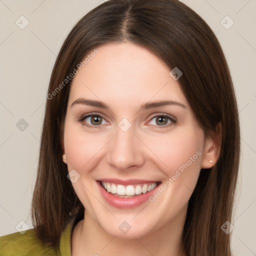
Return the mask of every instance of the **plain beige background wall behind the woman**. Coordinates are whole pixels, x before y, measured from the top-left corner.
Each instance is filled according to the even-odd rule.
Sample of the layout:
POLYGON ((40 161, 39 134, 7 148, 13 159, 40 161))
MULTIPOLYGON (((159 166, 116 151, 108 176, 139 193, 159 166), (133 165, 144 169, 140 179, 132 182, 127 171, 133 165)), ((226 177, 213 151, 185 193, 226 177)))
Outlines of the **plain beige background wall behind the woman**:
MULTIPOLYGON (((71 27, 101 2, 0 0, 0 235, 16 232, 22 220, 33 227, 29 209, 50 73, 71 27), (24 29, 15 23, 21 15, 29 21, 24 29), (21 118, 28 123, 23 131, 16 126, 21 118)), ((242 130, 232 247, 234 255, 256 255, 256 1, 183 2, 216 33, 229 64, 242 130), (234 21, 229 29, 226 15, 234 21)))

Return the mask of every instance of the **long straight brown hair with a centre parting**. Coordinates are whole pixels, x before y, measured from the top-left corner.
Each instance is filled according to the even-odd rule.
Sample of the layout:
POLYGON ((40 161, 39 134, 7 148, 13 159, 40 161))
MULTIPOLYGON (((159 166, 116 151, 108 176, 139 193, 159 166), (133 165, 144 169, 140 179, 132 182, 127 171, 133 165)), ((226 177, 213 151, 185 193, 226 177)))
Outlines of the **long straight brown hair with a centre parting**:
POLYGON ((188 256, 231 255, 230 234, 220 227, 225 221, 232 221, 239 165, 235 93, 213 31, 178 0, 106 1, 83 16, 65 39, 49 82, 31 203, 37 236, 56 246, 68 218, 84 216, 84 207, 62 161, 61 138, 71 80, 63 81, 86 54, 108 42, 142 45, 170 70, 178 67, 183 72, 178 82, 205 135, 217 134, 217 124, 221 123, 220 156, 212 168, 200 171, 188 202, 182 242, 188 256))

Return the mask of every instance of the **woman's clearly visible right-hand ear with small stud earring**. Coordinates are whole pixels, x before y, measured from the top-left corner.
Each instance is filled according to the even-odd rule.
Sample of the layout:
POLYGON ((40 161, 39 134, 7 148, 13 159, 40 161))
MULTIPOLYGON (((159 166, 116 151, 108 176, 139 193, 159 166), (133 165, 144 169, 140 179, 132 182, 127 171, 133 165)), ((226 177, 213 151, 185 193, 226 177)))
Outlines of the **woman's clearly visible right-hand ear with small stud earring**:
POLYGON ((218 160, 221 149, 222 125, 219 122, 216 131, 211 136, 205 138, 202 155, 201 168, 211 168, 218 160))

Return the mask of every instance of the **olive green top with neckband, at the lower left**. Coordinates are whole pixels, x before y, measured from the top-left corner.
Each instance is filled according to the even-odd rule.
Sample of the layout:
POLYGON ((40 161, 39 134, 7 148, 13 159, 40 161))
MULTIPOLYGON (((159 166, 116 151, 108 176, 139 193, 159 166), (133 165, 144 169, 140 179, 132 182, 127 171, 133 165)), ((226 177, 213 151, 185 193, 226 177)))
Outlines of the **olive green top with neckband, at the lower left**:
POLYGON ((76 223, 76 216, 69 219, 56 248, 44 245, 36 237, 34 228, 23 234, 0 236, 0 256, 71 256, 71 233, 76 223))

